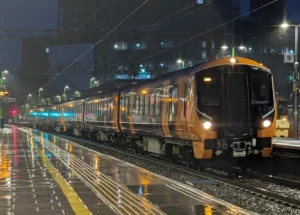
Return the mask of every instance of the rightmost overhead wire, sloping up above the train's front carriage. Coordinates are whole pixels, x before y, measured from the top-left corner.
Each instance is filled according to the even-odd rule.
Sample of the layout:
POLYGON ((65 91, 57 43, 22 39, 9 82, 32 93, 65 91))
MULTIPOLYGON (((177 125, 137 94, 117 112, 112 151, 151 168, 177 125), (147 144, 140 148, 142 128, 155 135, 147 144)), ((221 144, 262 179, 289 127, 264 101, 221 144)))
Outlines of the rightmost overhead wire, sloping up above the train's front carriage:
POLYGON ((162 50, 162 51, 156 52, 156 53, 153 54, 153 55, 150 55, 150 56, 148 56, 148 57, 145 57, 145 58, 139 60, 139 62, 143 62, 143 61, 145 61, 145 60, 151 59, 151 58, 153 58, 153 57, 155 57, 155 56, 157 56, 157 55, 160 55, 160 54, 162 54, 162 53, 164 53, 164 52, 167 52, 167 51, 169 51, 169 50, 171 50, 171 49, 174 49, 174 48, 176 48, 176 47, 178 47, 178 46, 181 46, 182 44, 185 44, 185 43, 187 43, 187 42, 190 42, 190 41, 192 41, 192 40, 194 40, 194 39, 196 39, 196 38, 198 38, 198 37, 200 37, 200 36, 203 36, 203 35, 205 35, 205 34, 207 34, 207 33, 209 33, 209 32, 212 32, 212 31, 214 31, 214 30, 216 30, 216 29, 218 29, 218 28, 220 28, 220 27, 222 27, 222 26, 224 26, 224 25, 227 25, 227 24, 229 24, 229 23, 231 23, 231 22, 234 22, 235 20, 238 20, 238 19, 240 19, 241 17, 247 16, 247 15, 249 15, 249 14, 255 12, 255 11, 258 11, 258 10, 264 8, 264 7, 267 7, 267 6, 273 4, 273 3, 277 2, 277 1, 278 1, 278 0, 274 0, 274 1, 272 1, 272 2, 266 3, 266 4, 260 6, 260 7, 256 8, 256 9, 253 9, 253 10, 247 12, 247 13, 244 13, 244 14, 242 14, 242 15, 236 17, 236 18, 233 18, 233 19, 231 19, 231 20, 229 20, 229 21, 227 21, 227 22, 224 22, 224 23, 222 23, 222 24, 220 24, 220 25, 217 25, 217 26, 215 26, 215 27, 213 27, 213 28, 211 28, 211 29, 209 29, 209 30, 207 30, 207 31, 204 31, 204 32, 202 32, 202 33, 200 33, 200 34, 197 34, 197 35, 195 35, 195 36, 193 36, 193 37, 191 37, 191 38, 189 38, 189 39, 187 39, 187 40, 184 40, 184 41, 182 41, 182 42, 180 42, 180 43, 178 43, 178 44, 176 44, 176 45, 174 45, 174 46, 172 46, 172 47, 170 47, 170 48, 164 49, 164 50, 162 50))

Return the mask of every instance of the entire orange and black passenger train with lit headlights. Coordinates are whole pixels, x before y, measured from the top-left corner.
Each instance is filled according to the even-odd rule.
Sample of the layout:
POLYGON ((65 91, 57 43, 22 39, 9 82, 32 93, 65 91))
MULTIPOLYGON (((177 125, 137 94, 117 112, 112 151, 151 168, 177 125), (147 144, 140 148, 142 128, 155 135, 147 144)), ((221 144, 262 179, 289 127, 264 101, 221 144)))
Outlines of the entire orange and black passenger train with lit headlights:
POLYGON ((183 160, 269 157, 276 130, 269 69, 222 58, 86 98, 33 108, 29 124, 183 160))

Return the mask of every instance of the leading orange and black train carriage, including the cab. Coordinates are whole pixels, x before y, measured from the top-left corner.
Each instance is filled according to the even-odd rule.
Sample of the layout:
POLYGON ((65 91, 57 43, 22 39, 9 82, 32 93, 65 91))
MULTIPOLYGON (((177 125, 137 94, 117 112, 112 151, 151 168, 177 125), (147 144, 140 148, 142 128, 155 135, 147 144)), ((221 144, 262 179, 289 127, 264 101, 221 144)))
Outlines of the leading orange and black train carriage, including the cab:
POLYGON ((158 154, 270 156, 273 86, 270 71, 245 58, 186 68, 123 89, 121 131, 158 154))

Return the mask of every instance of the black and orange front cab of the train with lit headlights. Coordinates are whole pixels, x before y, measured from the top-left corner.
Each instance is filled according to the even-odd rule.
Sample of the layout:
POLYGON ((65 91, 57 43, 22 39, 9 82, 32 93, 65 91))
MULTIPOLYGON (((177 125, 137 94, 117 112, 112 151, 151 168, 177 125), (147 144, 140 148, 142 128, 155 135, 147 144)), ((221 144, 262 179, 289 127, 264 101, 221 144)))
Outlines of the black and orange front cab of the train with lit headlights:
POLYGON ((274 83, 259 63, 236 58, 196 68, 187 94, 187 131, 196 159, 269 157, 276 129, 274 83), (194 111, 197 110, 197 111, 194 111))

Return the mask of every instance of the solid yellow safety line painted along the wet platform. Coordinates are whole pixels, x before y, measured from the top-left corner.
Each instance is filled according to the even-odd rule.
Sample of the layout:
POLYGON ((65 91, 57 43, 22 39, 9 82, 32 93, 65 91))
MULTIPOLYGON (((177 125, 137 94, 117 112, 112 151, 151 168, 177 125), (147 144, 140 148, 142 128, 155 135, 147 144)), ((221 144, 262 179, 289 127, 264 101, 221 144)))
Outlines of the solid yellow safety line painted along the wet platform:
MULTIPOLYGON (((34 145, 34 144, 32 144, 34 145)), ((70 203, 73 211, 75 214, 80 215, 90 215, 92 214, 90 210, 85 206, 85 204, 82 202, 80 197, 77 195, 73 187, 66 182, 66 180, 59 174, 57 169, 52 165, 50 160, 45 156, 44 153, 38 148, 35 147, 37 153, 42 158, 43 164, 47 168, 50 175, 53 177, 53 179, 57 182, 57 184, 60 186, 61 190, 63 191, 65 197, 67 198, 68 202, 70 203)))

